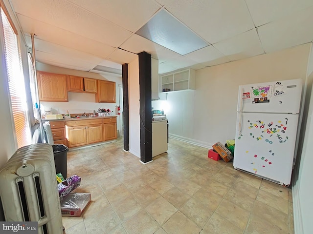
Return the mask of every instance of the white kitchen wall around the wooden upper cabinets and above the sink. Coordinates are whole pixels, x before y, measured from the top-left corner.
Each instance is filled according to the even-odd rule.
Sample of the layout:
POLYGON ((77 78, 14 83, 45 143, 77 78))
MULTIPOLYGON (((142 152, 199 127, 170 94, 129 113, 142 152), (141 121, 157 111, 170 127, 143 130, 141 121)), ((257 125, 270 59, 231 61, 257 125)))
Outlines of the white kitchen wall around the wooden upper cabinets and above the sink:
MULTIPOLYGON (((101 75, 97 73, 52 66, 40 62, 36 62, 36 69, 37 71, 114 81, 116 91, 116 103, 98 103, 95 102, 95 94, 74 92, 68 92, 68 102, 41 101, 40 103, 41 106, 52 108, 52 114, 65 114, 66 110, 69 110, 69 113, 71 114, 79 114, 84 112, 92 113, 93 110, 97 111, 98 108, 110 109, 111 111, 113 111, 112 115, 117 116, 117 123, 120 122, 121 116, 117 115, 116 108, 119 105, 118 85, 122 84, 121 76, 101 75)), ((120 131, 120 124, 117 124, 117 131, 120 131)))

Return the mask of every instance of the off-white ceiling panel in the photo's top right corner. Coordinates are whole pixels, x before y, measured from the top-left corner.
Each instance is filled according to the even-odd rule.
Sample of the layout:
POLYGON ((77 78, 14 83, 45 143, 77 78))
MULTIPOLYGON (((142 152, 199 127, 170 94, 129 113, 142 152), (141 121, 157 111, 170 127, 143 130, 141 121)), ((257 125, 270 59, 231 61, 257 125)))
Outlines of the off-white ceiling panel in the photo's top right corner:
POLYGON ((246 0, 255 26, 278 20, 313 5, 312 0, 246 0))

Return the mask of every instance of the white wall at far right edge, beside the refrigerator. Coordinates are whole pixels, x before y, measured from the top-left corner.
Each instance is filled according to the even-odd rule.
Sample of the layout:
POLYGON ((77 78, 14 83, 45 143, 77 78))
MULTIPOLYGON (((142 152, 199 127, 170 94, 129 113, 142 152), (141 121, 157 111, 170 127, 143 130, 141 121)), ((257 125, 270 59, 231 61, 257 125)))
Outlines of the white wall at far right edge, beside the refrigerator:
MULTIPOLYGON (((312 43, 311 43, 312 44, 312 43)), ((308 91, 306 95, 306 105, 304 112, 306 121, 303 121, 302 136, 299 149, 297 164, 293 172, 293 211, 294 211, 294 229, 295 234, 312 233, 313 218, 313 186, 312 186, 312 165, 313 165, 313 46, 311 47, 311 56, 308 64, 308 91), (303 143, 302 143, 303 142, 303 143)))

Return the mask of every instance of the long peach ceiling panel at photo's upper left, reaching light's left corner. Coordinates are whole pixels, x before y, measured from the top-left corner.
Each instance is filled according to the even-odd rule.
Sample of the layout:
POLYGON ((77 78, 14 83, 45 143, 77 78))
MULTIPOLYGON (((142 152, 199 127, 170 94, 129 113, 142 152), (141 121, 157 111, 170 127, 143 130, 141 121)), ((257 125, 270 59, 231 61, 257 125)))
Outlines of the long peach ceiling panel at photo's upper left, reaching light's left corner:
POLYGON ((131 33, 64 0, 13 0, 17 13, 113 47, 131 33), (109 32, 109 33, 108 33, 109 32))

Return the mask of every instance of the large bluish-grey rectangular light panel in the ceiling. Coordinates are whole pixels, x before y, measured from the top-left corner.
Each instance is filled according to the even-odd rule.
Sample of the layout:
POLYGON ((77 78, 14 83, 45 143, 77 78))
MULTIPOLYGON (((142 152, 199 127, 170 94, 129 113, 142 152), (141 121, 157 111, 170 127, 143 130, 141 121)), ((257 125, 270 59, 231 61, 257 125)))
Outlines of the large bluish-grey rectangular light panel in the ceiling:
POLYGON ((185 55, 208 45, 165 10, 159 11, 137 32, 146 39, 185 55))

